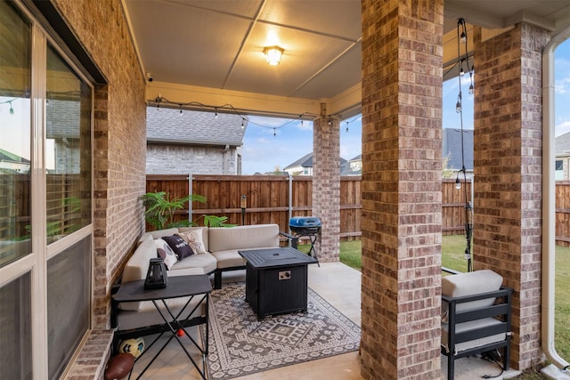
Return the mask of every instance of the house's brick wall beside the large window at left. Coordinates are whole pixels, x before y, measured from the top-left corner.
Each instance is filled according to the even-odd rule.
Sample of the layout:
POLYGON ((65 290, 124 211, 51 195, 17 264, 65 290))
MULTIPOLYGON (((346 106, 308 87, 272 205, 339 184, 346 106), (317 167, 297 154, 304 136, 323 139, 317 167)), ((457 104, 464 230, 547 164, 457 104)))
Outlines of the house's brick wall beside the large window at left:
POLYGON ((144 78, 119 0, 57 0, 107 78, 94 102, 94 327, 109 327, 110 285, 142 232, 144 78))

